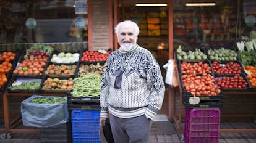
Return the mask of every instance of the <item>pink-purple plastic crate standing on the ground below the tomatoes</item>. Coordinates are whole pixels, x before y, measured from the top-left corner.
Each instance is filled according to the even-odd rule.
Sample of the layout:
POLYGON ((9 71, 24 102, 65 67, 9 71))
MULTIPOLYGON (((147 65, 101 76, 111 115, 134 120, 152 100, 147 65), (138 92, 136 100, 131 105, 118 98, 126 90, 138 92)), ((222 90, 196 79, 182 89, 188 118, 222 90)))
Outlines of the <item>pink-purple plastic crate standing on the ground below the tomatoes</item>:
POLYGON ((216 143, 220 131, 219 108, 185 108, 184 141, 216 143))

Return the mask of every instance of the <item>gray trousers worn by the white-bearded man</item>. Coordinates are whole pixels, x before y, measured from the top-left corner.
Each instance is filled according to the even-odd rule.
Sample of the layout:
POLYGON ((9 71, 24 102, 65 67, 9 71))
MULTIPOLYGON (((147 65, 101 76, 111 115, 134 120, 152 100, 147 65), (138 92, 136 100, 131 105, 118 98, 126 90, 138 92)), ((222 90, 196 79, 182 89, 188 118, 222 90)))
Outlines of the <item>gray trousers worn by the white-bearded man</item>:
POLYGON ((118 118, 110 114, 111 131, 115 143, 149 143, 152 121, 145 115, 118 118))

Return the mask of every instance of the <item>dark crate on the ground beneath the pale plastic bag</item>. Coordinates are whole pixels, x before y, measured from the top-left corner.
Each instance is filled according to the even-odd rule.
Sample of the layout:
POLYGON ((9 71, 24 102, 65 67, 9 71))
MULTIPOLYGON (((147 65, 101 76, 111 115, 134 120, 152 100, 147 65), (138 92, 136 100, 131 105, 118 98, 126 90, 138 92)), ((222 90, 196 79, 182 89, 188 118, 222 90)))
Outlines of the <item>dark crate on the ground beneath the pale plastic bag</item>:
POLYGON ((39 128, 41 143, 72 143, 71 121, 61 125, 39 128))

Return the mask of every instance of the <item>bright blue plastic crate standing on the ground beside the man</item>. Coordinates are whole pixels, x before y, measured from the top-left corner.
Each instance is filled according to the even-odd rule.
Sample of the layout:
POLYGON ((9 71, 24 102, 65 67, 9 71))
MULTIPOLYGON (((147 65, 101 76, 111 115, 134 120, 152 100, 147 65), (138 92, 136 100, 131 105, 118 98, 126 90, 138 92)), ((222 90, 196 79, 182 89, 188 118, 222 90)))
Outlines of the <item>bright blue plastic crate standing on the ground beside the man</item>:
POLYGON ((100 110, 72 110, 71 120, 73 143, 101 142, 100 110))

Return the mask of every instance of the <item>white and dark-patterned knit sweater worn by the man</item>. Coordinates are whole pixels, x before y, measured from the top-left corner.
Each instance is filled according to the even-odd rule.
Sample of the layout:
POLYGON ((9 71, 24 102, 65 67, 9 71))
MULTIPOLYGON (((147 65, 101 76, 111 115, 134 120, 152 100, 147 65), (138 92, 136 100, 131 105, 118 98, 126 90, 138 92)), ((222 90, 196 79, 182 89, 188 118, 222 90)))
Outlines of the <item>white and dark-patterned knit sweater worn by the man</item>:
POLYGON ((100 117, 108 112, 119 118, 145 114, 153 120, 162 107, 165 87, 153 55, 138 45, 127 53, 111 52, 101 79, 100 117), (121 88, 114 88, 114 73, 122 71, 121 88))

